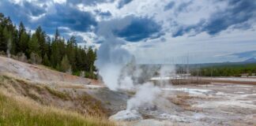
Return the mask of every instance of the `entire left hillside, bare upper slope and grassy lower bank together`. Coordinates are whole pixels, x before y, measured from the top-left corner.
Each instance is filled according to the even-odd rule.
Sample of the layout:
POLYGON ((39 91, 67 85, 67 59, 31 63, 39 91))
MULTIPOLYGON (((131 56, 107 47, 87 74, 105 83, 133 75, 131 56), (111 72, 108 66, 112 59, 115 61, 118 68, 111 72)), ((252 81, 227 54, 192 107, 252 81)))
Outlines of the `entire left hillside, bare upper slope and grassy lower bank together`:
POLYGON ((102 86, 96 80, 0 57, 0 124, 114 125, 106 119, 110 111, 104 102, 88 94, 91 87, 102 86))

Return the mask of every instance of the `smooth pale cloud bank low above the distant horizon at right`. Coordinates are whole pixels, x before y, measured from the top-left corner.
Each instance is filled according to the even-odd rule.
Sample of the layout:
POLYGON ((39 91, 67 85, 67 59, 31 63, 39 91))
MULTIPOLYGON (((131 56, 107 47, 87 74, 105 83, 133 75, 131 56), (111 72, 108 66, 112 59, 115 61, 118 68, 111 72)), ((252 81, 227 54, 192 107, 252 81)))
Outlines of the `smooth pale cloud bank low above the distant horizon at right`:
POLYGON ((256 49, 254 30, 223 31, 214 37, 205 32, 193 37, 165 37, 167 40, 164 43, 156 39, 147 43, 131 43, 126 48, 141 63, 184 63, 188 55, 190 63, 243 61, 245 59, 229 54, 256 49))

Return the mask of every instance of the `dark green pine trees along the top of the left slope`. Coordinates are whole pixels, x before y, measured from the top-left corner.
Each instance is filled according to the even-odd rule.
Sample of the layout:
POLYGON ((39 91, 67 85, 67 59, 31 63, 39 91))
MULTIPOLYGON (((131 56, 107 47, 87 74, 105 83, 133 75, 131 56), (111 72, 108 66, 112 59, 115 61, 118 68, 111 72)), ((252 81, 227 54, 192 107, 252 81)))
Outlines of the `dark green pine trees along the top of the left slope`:
POLYGON ((58 29, 52 38, 40 26, 32 33, 22 22, 17 27, 3 13, 0 13, 0 51, 20 61, 96 79, 96 50, 92 47, 77 46, 74 36, 65 40, 58 29))

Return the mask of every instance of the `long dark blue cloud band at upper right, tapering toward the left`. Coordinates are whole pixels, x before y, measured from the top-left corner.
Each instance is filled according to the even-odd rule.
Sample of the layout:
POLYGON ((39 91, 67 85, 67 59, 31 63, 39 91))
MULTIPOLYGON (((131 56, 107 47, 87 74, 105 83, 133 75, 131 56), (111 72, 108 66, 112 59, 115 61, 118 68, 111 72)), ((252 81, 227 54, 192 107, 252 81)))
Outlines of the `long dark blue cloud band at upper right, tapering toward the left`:
POLYGON ((209 20, 203 20, 198 24, 179 27, 173 33, 173 37, 184 35, 191 30, 197 33, 206 31, 209 35, 216 35, 231 26, 233 28, 248 29, 251 24, 248 24, 247 21, 255 19, 255 13, 256 1, 229 0, 228 8, 224 11, 213 13, 209 20))

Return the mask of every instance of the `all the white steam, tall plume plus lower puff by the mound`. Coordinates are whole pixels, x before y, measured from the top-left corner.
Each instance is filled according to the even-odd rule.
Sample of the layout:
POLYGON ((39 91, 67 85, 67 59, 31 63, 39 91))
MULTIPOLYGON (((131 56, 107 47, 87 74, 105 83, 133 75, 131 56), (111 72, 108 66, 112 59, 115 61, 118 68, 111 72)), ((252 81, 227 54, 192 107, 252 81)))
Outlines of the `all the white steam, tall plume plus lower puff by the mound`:
MULTIPOLYGON (((135 57, 122 47, 126 42, 113 34, 115 29, 124 28, 128 24, 129 18, 126 21, 115 20, 114 23, 106 21, 99 24, 97 34, 102 36, 104 43, 101 43, 97 51, 96 67, 104 83, 111 90, 136 91, 136 95, 127 102, 126 110, 130 111, 145 104, 153 106, 153 101, 160 95, 161 90, 160 87, 146 81, 156 71, 150 67, 138 67, 135 57)), ((164 70, 160 72, 162 76, 166 73, 164 70)))

